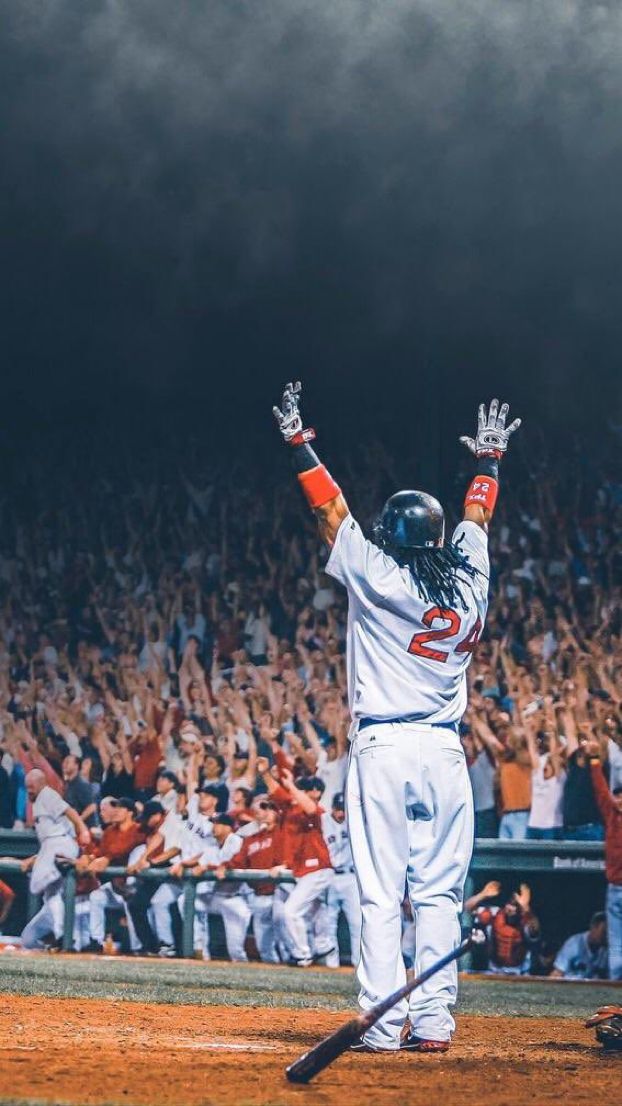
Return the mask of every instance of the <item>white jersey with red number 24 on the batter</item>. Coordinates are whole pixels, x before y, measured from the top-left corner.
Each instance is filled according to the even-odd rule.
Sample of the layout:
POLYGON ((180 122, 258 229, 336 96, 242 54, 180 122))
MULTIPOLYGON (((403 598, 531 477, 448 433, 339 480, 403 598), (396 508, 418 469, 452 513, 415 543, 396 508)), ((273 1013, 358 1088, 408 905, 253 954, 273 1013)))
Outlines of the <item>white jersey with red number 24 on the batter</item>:
POLYGON ((467 705, 466 670, 488 606, 488 539, 460 522, 453 541, 477 568, 458 573, 466 611, 422 599, 408 567, 363 536, 348 515, 326 572, 348 588, 348 688, 353 719, 408 717, 458 722, 467 705))

